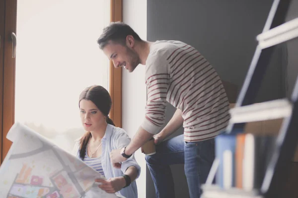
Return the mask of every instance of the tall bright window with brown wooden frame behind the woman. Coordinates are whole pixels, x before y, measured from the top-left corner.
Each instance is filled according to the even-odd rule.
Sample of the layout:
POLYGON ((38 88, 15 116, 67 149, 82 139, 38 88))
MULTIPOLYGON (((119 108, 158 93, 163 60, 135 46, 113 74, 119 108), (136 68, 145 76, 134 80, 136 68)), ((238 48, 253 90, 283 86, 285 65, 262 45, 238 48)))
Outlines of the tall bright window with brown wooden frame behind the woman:
POLYGON ((110 117, 121 127, 122 70, 114 71, 96 40, 109 21, 122 20, 122 0, 5 3, 5 25, 0 30, 4 29, 5 39, 16 32, 17 48, 12 58, 11 41, 5 41, 3 91, 0 89, 2 159, 11 145, 6 134, 14 121, 71 150, 84 132, 79 94, 94 84, 109 90, 113 100, 110 117))

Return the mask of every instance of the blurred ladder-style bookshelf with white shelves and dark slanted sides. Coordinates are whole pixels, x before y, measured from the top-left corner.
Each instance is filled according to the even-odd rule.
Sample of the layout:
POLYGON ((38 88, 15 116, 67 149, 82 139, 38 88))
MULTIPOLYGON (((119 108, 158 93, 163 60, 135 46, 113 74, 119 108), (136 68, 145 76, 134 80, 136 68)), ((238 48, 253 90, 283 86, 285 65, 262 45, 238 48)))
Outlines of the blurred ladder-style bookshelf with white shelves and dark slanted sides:
POLYGON ((202 185, 201 198, 274 198, 274 192, 279 188, 278 182, 287 177, 288 162, 294 156, 298 143, 298 77, 291 98, 253 103, 276 45, 298 38, 298 18, 284 22, 290 3, 291 0, 274 0, 263 32, 256 38, 258 46, 236 106, 230 110, 231 119, 225 131, 225 134, 235 135, 243 131, 247 122, 284 118, 261 188, 245 191, 234 187, 224 189, 212 184, 220 164, 217 156, 206 184, 202 185))

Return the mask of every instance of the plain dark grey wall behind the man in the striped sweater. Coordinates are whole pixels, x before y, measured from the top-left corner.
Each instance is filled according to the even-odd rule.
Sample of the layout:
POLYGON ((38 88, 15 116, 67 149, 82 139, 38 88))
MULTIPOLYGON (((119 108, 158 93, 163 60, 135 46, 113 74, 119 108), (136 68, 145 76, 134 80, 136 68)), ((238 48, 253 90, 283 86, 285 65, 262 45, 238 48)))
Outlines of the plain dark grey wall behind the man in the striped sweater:
MULTIPOLYGON (((256 49, 256 36, 263 30, 273 0, 148 0, 147 39, 180 40, 198 49, 216 68, 221 78, 241 89, 256 49)), ((257 101, 281 98, 285 72, 275 51, 257 101)), ((168 105, 166 119, 175 109, 168 105)), ((173 136, 182 134, 182 128, 173 136)), ((187 198, 183 165, 171 166, 176 198, 187 198)), ((147 198, 155 198, 147 170, 147 198)))

